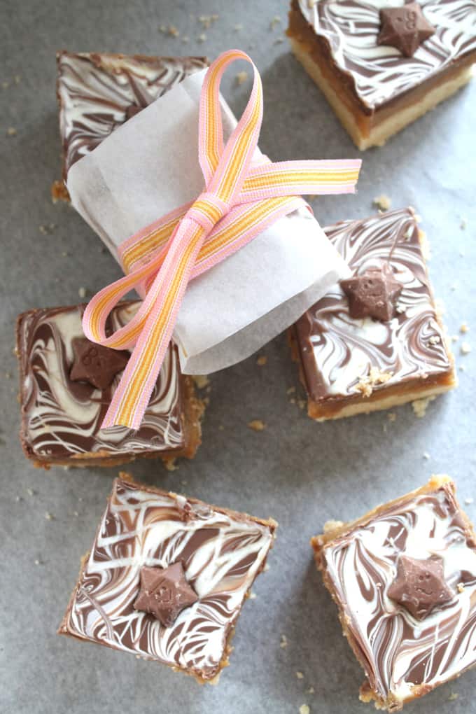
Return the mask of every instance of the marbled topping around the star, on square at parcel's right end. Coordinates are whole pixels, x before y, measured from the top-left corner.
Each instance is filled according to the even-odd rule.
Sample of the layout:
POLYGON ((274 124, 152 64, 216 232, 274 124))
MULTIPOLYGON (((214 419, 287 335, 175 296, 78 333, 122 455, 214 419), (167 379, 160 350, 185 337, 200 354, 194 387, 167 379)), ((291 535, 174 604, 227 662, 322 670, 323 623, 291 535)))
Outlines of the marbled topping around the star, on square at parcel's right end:
POLYGON ((351 318, 348 298, 338 285, 300 318, 299 346, 310 396, 358 394, 358 383, 370 368, 392 373, 375 390, 449 371, 412 211, 388 211, 324 231, 358 273, 387 261, 391 253, 390 265, 404 287, 397 315, 388 322, 351 318))

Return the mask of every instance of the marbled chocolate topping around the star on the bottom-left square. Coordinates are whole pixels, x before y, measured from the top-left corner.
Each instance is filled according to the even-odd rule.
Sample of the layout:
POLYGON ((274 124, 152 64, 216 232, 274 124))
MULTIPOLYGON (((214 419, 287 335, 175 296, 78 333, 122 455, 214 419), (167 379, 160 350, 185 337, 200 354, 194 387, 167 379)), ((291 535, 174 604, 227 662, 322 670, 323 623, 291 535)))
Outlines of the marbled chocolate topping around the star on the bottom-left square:
POLYGON ((248 516, 118 479, 61 631, 211 679, 272 544, 248 516), (139 573, 178 560, 198 601, 164 627, 133 609, 139 573))

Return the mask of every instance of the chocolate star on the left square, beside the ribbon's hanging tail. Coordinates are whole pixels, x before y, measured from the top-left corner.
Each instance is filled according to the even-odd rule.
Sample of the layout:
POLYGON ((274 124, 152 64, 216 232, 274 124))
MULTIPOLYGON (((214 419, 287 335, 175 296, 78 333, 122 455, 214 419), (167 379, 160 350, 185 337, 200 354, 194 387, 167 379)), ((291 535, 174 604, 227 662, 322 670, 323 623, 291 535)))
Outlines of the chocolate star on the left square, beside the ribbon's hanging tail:
POLYGON ((128 363, 130 354, 96 345, 86 337, 73 340, 74 362, 69 378, 74 382, 89 382, 97 389, 106 389, 118 372, 128 363))

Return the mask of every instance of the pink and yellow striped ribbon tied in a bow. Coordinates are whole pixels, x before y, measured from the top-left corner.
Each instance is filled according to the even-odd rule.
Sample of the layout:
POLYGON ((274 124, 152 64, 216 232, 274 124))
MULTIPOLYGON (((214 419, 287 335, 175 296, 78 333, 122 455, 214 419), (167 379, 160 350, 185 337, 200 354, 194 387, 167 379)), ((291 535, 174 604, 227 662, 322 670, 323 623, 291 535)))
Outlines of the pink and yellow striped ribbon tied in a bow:
POLYGON ((90 340, 133 348, 102 427, 141 425, 188 281, 230 256, 281 216, 306 205, 296 194, 353 193, 361 161, 253 162, 263 118, 260 75, 247 54, 230 50, 211 64, 203 81, 198 127, 205 190, 196 201, 168 213, 119 247, 126 276, 88 304, 83 331, 90 340), (253 67, 253 90, 223 146, 220 82, 236 59, 253 67), (144 296, 126 325, 106 336, 106 319, 132 288, 144 296))

